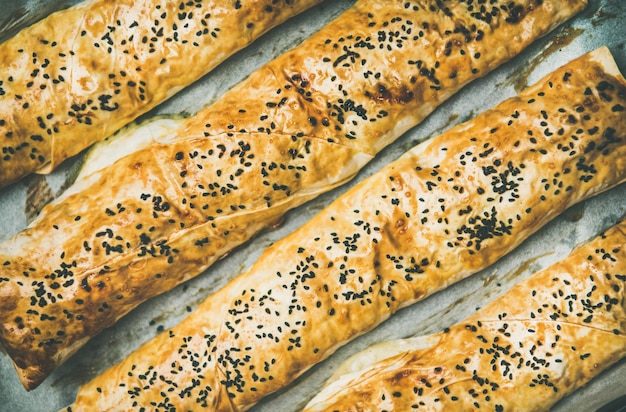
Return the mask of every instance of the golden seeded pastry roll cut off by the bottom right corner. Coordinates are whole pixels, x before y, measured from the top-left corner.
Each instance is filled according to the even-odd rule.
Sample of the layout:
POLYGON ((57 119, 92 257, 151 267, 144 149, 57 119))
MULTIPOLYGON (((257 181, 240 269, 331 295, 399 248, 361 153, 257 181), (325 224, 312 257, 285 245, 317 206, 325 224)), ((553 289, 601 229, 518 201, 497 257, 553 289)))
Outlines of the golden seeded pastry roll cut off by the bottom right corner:
POLYGON ((626 221, 441 333, 348 359, 313 411, 548 411, 626 356, 626 221))

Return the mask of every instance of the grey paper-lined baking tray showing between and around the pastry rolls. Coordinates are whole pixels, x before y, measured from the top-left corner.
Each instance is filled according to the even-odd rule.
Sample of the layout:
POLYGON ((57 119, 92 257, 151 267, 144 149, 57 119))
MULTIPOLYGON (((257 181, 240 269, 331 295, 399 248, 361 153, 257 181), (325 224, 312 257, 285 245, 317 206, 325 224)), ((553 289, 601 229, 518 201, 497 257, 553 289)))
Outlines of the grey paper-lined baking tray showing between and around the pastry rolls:
MULTIPOLYGON (((0 42, 43 16, 77 0, 0 0, 0 42)), ((327 0, 272 30, 144 118, 157 114, 197 112, 248 73, 297 45, 354 3, 327 0)), ((265 231, 213 265, 206 273, 156 297, 92 339, 37 389, 26 392, 9 357, 0 348, 0 410, 56 411, 74 399, 78 387, 121 360, 142 342, 174 326, 210 293, 249 267, 271 243, 285 236, 356 182, 398 158, 420 141, 470 119, 567 61, 607 45, 626 72, 626 2, 590 0, 588 8, 520 56, 453 96, 426 121, 379 154, 350 183, 289 213, 283 223, 265 231)), ((626 119, 625 119, 626 120, 626 119)), ((0 190, 0 240, 17 233, 37 211, 67 187, 80 155, 49 176, 31 176, 0 190)), ((553 220, 497 264, 447 290, 406 308, 374 331, 340 348, 288 388, 263 400, 254 411, 299 410, 348 356, 389 339, 438 332, 461 321, 478 307, 537 270, 565 257, 572 248, 611 227, 626 215, 626 184, 574 206, 553 220)), ((561 401, 555 411, 594 411, 626 395, 626 359, 586 387, 561 401)))

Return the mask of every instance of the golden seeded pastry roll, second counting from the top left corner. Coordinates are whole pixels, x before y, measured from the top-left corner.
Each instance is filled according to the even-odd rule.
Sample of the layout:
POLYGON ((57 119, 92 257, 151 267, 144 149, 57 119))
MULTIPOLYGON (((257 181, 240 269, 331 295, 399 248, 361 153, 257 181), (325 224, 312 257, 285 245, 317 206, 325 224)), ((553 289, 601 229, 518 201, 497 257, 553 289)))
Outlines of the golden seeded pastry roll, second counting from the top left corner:
POLYGON ((119 159, 91 168, 0 244, 0 341, 24 385, 353 177, 462 85, 585 5, 509 3, 487 13, 457 2, 357 2, 197 115, 92 156, 119 159))

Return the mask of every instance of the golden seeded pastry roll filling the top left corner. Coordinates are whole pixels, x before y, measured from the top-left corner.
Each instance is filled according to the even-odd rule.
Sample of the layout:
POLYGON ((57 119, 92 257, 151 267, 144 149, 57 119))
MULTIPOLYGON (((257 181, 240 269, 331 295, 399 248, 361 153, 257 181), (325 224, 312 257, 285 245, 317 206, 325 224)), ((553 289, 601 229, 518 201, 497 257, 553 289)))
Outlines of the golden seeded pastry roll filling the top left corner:
POLYGON ((0 44, 0 187, 50 172, 321 0, 88 0, 0 44))

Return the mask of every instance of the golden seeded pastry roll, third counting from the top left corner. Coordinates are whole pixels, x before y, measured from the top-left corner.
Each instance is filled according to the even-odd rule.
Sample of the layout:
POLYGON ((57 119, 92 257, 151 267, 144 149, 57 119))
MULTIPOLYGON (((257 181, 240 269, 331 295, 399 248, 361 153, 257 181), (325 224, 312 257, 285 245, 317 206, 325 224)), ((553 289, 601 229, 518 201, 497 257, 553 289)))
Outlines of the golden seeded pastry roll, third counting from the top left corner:
POLYGON ((68 410, 251 407, 624 181, 625 91, 599 49, 416 146, 84 385, 68 410))

